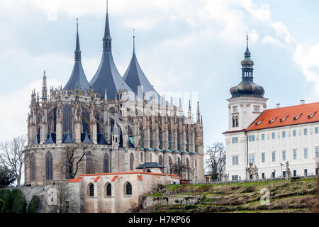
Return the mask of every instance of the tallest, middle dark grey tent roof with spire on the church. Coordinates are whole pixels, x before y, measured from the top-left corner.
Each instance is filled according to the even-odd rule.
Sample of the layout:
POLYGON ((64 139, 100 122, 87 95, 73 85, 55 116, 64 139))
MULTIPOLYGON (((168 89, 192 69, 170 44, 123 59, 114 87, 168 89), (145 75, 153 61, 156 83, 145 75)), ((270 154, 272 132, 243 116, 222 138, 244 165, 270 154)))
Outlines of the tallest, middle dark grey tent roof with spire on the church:
POLYGON ((121 89, 122 85, 124 89, 128 90, 128 92, 133 92, 130 87, 128 87, 128 84, 125 83, 124 79, 121 77, 121 74, 116 68, 112 55, 111 43, 112 38, 108 23, 108 12, 106 11, 106 24, 103 37, 103 55, 99 69, 90 82, 94 92, 99 92, 102 99, 104 98, 105 89, 108 99, 115 99, 116 95, 118 95, 118 90, 121 89))

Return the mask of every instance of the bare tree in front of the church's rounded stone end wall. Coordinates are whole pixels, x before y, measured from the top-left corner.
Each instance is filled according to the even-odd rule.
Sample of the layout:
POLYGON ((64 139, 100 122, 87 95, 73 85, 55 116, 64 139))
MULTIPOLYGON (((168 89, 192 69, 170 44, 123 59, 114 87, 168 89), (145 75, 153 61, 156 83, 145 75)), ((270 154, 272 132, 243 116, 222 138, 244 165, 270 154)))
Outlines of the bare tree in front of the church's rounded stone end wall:
MULTIPOLYGON (((66 160, 65 165, 62 165, 61 171, 67 175, 69 179, 74 179, 79 172, 80 163, 85 162, 86 158, 91 155, 93 158, 94 155, 91 151, 87 150, 87 145, 79 145, 68 147, 66 150, 66 160)), ((93 161, 93 160, 92 160, 93 161)), ((92 166, 92 172, 95 172, 96 167, 92 166)))

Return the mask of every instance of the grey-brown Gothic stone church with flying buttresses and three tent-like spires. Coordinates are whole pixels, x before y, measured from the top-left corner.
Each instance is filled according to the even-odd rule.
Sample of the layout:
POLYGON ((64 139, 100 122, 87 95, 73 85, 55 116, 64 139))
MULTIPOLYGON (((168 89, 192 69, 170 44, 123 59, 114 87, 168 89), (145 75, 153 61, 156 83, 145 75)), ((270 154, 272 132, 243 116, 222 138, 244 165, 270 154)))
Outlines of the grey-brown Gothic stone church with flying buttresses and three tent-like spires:
POLYGON ((135 55, 123 77, 112 56, 106 13, 101 64, 91 82, 82 67, 77 31, 74 67, 64 88, 32 92, 25 182, 43 185, 80 175, 116 172, 178 174, 203 182, 203 121, 160 96, 135 55), (83 156, 83 157, 82 157, 83 156), (77 163, 82 158, 82 161, 77 163), (184 167, 184 171, 178 171, 184 167))

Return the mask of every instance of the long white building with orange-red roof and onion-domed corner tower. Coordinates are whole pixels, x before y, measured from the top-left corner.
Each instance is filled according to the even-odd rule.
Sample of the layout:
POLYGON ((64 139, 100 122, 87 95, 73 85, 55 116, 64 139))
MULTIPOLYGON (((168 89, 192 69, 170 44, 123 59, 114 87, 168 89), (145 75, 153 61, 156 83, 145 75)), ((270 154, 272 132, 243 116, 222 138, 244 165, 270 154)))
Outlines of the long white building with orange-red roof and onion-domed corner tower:
POLYGON ((264 88, 253 82, 250 50, 242 82, 230 89, 226 170, 228 180, 318 175, 319 103, 267 109, 264 88))

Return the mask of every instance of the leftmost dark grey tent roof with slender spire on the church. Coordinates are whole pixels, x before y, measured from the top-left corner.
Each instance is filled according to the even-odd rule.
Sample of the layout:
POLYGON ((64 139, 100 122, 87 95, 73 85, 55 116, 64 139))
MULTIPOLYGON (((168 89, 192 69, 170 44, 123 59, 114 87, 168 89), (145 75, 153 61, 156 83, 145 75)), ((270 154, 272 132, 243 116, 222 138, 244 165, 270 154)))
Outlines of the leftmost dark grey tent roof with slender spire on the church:
POLYGON ((77 28, 77 45, 74 52, 74 66, 72 70, 71 77, 69 77, 69 81, 65 85, 64 90, 73 89, 82 89, 89 90, 90 84, 86 79, 86 75, 84 73, 82 62, 81 62, 81 49, 79 45, 79 31, 77 28))

